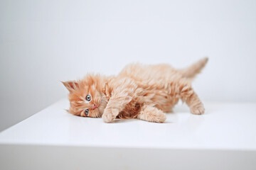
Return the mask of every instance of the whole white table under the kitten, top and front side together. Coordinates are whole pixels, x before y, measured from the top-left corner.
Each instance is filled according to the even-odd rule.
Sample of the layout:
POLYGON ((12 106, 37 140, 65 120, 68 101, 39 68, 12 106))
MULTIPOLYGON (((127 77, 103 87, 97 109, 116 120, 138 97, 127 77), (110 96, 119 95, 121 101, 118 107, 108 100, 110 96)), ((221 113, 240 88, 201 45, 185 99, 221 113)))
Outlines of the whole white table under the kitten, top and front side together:
POLYGON ((256 169, 256 103, 178 105, 166 123, 82 118, 67 99, 0 133, 0 169, 256 169))

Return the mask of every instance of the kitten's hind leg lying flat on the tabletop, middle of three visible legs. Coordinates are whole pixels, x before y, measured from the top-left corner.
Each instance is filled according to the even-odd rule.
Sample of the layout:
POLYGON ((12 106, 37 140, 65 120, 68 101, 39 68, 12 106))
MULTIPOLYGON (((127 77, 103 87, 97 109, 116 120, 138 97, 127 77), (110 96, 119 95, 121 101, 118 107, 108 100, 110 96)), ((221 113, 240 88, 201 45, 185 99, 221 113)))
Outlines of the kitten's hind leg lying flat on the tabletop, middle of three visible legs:
POLYGON ((137 118, 148 122, 164 123, 164 120, 166 120, 166 114, 154 106, 144 105, 142 106, 139 115, 137 115, 137 118))

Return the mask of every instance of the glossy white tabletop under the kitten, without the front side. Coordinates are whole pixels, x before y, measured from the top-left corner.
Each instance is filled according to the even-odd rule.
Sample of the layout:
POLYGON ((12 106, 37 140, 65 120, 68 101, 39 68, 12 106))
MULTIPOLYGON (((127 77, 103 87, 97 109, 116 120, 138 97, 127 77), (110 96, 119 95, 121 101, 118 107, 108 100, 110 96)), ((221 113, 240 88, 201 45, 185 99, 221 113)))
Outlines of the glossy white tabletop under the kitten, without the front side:
POLYGON ((0 133, 0 144, 232 149, 256 151, 256 103, 206 103, 204 115, 186 105, 167 114, 166 123, 82 118, 67 113, 68 100, 36 113, 0 133))

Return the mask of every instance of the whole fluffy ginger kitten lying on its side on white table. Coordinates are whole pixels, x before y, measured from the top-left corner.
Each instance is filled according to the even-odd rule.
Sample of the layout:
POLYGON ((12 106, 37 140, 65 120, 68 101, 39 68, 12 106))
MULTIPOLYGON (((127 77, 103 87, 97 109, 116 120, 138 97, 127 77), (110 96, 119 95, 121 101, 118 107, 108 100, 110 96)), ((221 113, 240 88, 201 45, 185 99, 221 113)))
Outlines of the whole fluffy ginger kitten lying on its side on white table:
POLYGON ((181 99, 191 113, 203 114, 203 103, 193 91, 191 80, 207 61, 204 58, 186 69, 174 69, 168 64, 129 64, 115 77, 87 74, 82 80, 63 82, 70 92, 68 112, 102 117, 105 123, 115 118, 163 123, 165 113, 171 112, 181 99))

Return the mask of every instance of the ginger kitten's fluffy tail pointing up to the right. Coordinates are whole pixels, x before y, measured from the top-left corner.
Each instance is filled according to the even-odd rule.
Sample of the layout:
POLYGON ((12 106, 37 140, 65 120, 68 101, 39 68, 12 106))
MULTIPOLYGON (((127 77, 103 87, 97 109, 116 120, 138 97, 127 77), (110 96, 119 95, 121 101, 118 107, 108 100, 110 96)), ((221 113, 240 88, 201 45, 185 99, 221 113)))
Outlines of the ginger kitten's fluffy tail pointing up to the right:
POLYGON ((188 79, 193 79, 196 77, 196 74, 200 73, 203 67, 205 67, 206 63, 208 62, 208 57, 205 57, 198 62, 192 64, 190 67, 186 69, 179 69, 179 72, 182 74, 183 77, 188 79))

